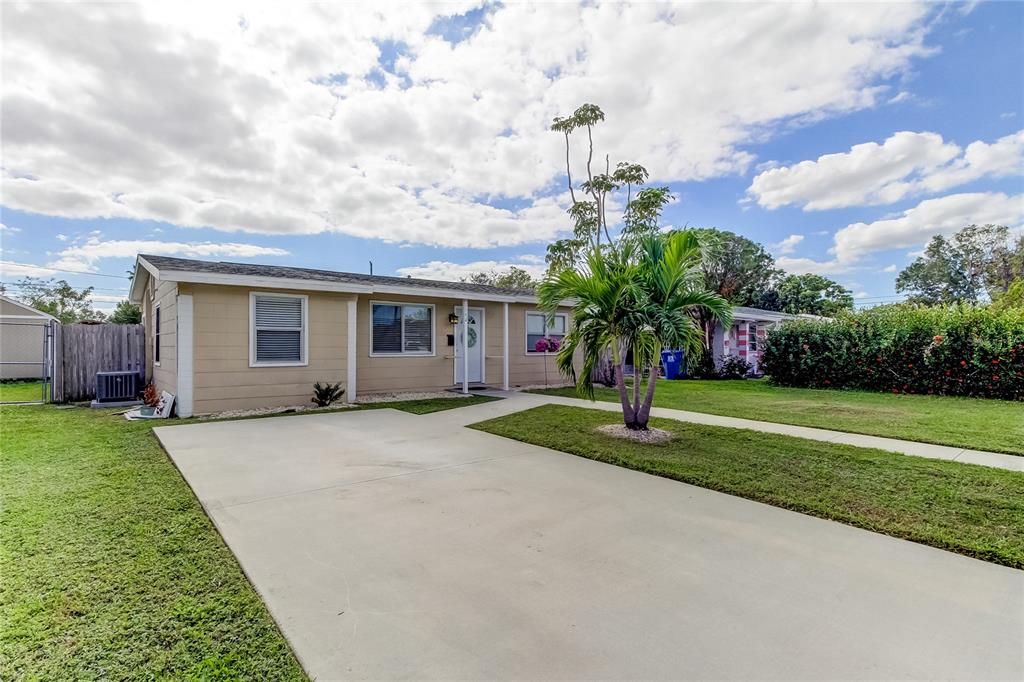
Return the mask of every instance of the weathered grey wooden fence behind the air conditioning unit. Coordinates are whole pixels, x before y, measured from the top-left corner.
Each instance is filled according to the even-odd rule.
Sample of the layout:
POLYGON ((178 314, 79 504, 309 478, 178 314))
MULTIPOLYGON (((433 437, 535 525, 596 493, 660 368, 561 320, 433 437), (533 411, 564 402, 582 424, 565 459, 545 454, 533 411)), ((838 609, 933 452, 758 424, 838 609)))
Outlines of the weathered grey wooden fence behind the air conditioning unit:
POLYGON ((54 402, 95 397, 97 372, 145 373, 141 325, 58 325, 53 345, 54 402))

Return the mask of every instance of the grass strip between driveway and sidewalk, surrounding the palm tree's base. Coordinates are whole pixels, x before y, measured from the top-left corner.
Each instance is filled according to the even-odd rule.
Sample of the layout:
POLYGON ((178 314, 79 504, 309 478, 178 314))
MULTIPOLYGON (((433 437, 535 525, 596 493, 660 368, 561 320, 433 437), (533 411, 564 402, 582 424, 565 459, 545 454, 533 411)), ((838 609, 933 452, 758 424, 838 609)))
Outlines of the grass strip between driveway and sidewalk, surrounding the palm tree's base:
POLYGON ((665 419, 663 444, 595 431, 615 421, 545 406, 472 428, 1024 568, 1022 473, 665 419))

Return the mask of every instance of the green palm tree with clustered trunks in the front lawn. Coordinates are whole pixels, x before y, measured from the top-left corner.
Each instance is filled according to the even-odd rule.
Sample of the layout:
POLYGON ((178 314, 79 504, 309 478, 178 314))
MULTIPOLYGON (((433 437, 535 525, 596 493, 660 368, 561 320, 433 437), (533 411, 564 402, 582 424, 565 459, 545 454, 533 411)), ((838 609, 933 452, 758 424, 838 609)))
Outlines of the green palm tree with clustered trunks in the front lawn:
POLYGON ((699 266, 700 245, 693 232, 649 235, 621 242, 614 250, 594 249, 579 270, 551 275, 538 288, 547 310, 574 301, 572 328, 557 364, 579 395, 594 398, 593 369, 610 351, 627 428, 647 428, 662 349, 699 350, 702 334, 692 312, 703 308, 723 325, 731 322, 728 302, 703 289, 699 266), (635 368, 632 399, 623 373, 629 348, 635 368), (578 350, 583 356, 579 373, 572 364, 578 350), (649 375, 642 392, 644 369, 649 375))

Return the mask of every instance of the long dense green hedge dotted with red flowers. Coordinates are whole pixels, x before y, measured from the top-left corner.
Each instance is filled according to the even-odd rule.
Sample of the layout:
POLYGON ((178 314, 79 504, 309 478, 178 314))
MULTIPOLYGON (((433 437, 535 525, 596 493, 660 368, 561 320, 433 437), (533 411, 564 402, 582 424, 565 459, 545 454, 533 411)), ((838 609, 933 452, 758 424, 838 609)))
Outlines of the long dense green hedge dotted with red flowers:
POLYGON ((1024 309, 889 305, 771 331, 773 383, 1024 400, 1024 309))

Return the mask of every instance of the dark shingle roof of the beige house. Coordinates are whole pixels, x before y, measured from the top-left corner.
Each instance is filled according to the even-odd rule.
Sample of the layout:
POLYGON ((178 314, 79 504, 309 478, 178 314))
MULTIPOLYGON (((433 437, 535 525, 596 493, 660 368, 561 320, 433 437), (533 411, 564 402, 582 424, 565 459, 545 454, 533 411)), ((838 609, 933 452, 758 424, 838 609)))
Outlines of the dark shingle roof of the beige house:
POLYGON ((285 265, 256 265, 251 263, 229 263, 225 261, 194 260, 191 258, 172 258, 170 256, 152 256, 139 254, 158 270, 184 270, 188 272, 209 272, 212 274, 239 274, 260 278, 284 278, 289 280, 308 280, 310 282, 336 282, 354 285, 388 285, 396 287, 417 287, 425 290, 462 291, 467 294, 489 294, 494 296, 534 296, 529 289, 508 289, 489 285, 472 284, 469 282, 440 282, 435 280, 416 280, 413 278, 392 278, 381 274, 360 274, 358 272, 338 272, 335 270, 315 270, 306 267, 288 267, 285 265))

